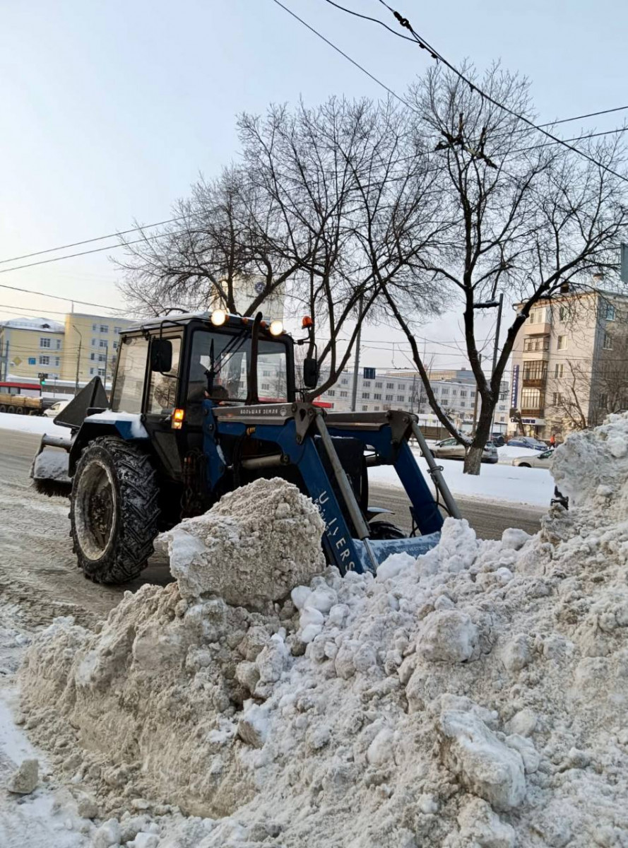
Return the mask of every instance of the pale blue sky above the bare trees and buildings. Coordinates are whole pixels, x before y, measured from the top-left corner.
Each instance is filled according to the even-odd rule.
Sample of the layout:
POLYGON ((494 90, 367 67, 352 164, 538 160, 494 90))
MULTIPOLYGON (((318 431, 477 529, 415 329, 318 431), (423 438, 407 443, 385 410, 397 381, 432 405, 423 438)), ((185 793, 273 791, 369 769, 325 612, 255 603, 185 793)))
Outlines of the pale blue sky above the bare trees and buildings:
MULTIPOLYGON (((402 96, 431 63, 325 0, 282 2, 402 96)), ((397 25, 377 0, 342 4, 397 25)), ((501 59, 528 75, 540 121, 628 100, 628 3, 397 0, 396 8, 453 64, 469 57, 483 69, 501 59)), ((273 0, 3 0, 0 259, 125 229, 134 218, 164 220, 199 172, 213 176, 237 156, 236 114, 299 96, 314 105, 331 94, 383 92, 273 0)), ((612 129, 623 117, 561 131, 612 129)), ((119 307, 115 280, 106 253, 0 274, 9 286, 119 307)), ((50 317, 66 308, 0 288, 0 319, 15 317, 15 306, 50 317)), ((445 316, 425 326, 434 340, 426 349, 442 354, 441 365, 462 365, 442 346, 459 336, 445 316)), ((388 329, 370 327, 364 338, 364 364, 391 364, 388 329)), ((397 350, 394 364, 405 361, 397 350)))

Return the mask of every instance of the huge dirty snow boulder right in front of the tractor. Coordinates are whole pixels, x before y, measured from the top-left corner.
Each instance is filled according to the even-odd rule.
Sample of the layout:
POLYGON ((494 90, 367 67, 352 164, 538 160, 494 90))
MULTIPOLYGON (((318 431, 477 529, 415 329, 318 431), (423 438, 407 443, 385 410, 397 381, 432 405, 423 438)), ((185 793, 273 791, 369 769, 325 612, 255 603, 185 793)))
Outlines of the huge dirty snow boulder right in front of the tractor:
POLYGON ((292 483, 256 480, 164 536, 181 596, 263 609, 325 567, 319 510, 292 483))

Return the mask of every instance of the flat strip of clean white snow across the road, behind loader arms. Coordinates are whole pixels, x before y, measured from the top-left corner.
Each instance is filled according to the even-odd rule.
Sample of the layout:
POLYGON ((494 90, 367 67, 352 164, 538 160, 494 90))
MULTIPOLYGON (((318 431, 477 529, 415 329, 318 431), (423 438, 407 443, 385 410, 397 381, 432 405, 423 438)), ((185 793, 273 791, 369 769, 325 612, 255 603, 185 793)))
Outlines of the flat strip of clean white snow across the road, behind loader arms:
MULTIPOLYGON (((418 451, 414 451, 414 456, 425 479, 431 481, 425 459, 419 455, 418 451)), ((439 466, 442 466, 443 477, 454 495, 539 506, 548 506, 553 497, 553 477, 544 468, 517 468, 501 463, 497 465, 483 463, 480 476, 475 477, 463 474, 461 460, 436 461, 439 466)), ((371 483, 403 488, 397 477, 397 471, 392 466, 370 468, 369 480, 371 483)), ((431 488, 433 489, 433 486, 431 488)))

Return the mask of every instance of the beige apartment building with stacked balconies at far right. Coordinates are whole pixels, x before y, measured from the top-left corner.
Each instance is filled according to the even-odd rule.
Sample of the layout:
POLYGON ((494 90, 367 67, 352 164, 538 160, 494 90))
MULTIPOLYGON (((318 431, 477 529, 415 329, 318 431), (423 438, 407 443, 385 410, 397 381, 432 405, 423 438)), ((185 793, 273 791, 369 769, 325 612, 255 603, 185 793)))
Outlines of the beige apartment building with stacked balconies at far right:
POLYGON ((565 285, 525 321, 513 350, 509 432, 547 439, 628 408, 628 298, 565 285))

